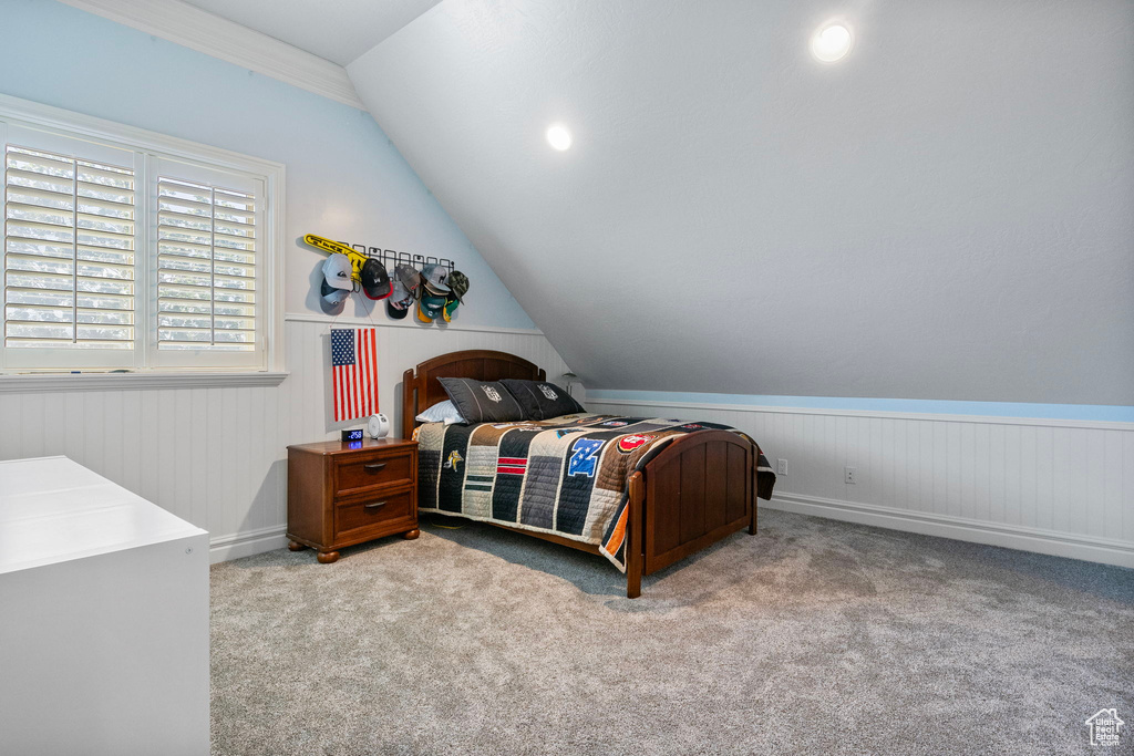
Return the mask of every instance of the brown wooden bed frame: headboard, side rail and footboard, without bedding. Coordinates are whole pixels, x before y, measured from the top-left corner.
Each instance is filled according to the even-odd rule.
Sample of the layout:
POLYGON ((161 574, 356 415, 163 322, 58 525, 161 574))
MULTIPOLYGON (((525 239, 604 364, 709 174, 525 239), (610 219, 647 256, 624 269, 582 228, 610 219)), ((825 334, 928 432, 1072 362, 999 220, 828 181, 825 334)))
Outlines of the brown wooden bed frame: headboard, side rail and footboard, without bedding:
MULTIPOLYGON (((403 375, 403 438, 413 438, 418 414, 448 399, 440 377, 545 381, 547 373, 503 351, 454 351, 428 359, 403 375)), ((636 598, 642 594, 643 575, 669 567, 745 527, 755 534, 755 473, 751 444, 728 431, 684 435, 635 472, 629 481, 626 526, 626 595, 636 598)), ((598 545, 490 525, 599 553, 598 545)))

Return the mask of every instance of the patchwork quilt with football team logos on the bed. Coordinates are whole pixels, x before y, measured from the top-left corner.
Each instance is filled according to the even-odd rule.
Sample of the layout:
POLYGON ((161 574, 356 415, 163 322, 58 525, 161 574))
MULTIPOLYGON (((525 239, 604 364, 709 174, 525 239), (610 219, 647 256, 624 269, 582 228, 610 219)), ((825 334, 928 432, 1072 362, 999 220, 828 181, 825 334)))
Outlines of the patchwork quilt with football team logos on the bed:
POLYGON ((524 530, 598 544, 626 569, 629 476, 694 431, 731 431, 756 453, 756 495, 776 475, 760 447, 727 425, 577 414, 548 421, 426 423, 418 442, 417 506, 524 530))

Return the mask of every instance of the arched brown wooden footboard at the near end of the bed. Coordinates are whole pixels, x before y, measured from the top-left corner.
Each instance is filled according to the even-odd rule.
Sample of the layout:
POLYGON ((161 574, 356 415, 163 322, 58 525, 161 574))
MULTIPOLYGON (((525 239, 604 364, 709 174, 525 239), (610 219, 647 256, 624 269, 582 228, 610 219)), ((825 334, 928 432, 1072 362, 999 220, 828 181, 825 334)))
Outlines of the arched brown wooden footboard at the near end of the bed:
POLYGON ((629 485, 626 595, 641 594, 642 576, 747 527, 755 533, 752 445, 728 431, 682 436, 629 485))

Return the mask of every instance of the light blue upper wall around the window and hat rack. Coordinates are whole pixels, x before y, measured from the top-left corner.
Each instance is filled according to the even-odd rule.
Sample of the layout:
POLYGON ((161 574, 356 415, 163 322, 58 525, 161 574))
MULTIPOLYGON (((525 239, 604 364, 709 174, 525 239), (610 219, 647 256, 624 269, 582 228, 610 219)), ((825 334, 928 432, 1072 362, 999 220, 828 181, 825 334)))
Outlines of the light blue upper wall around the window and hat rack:
POLYGON ((52 0, 0 0, 0 93, 286 163, 287 312, 319 312, 319 233, 449 257, 462 324, 533 328, 369 113, 52 0))

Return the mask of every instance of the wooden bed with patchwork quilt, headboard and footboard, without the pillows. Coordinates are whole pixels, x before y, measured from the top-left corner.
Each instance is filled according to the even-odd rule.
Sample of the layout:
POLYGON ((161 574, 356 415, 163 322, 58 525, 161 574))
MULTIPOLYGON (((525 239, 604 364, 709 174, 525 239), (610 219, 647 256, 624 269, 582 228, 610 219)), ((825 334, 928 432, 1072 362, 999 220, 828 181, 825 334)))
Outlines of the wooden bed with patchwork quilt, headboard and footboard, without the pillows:
POLYGON ((403 438, 418 441, 421 511, 467 517, 603 555, 626 574, 629 598, 641 595, 643 575, 743 528, 756 533, 756 496, 771 496, 776 476, 755 442, 735 428, 591 413, 542 422, 417 423, 418 414, 448 399, 441 377, 545 381, 547 373, 522 357, 489 350, 440 355, 405 372, 401 430, 403 438), (526 493, 538 491, 532 481, 539 473, 526 467, 527 456, 535 466, 534 450, 507 462, 510 467, 502 461, 519 453, 507 445, 518 439, 539 444, 544 455, 539 459, 559 460, 560 482, 543 499, 526 493), (527 496, 523 511, 507 503, 518 496, 493 493, 506 481, 521 485, 511 483, 519 477, 527 496), (606 486, 601 492, 600 485, 606 486), (541 507, 553 513, 536 521, 541 507))

